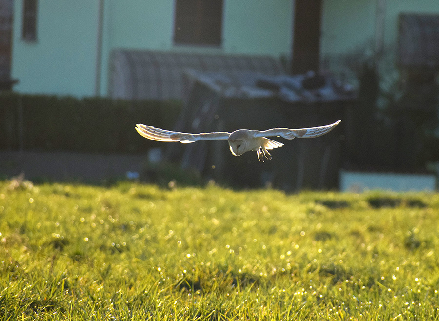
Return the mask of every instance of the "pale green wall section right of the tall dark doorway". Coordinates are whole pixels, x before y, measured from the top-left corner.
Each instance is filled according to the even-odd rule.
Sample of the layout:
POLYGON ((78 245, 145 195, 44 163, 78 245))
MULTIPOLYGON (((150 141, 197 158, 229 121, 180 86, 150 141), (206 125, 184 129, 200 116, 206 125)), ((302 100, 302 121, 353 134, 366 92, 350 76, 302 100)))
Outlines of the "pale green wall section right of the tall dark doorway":
MULTIPOLYGON (((358 68, 373 56, 379 0, 324 0, 320 60, 337 78, 358 86, 358 68)), ((384 51, 378 60, 380 86, 392 90, 400 78, 396 65, 400 13, 439 14, 439 0, 385 0, 384 51)))

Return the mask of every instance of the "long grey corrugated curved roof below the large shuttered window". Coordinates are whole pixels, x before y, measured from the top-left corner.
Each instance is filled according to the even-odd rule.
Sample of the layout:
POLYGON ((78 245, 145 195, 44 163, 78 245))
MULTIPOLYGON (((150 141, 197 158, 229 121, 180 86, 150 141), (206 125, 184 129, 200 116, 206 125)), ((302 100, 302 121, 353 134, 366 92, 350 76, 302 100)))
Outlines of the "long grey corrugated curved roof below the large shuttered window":
POLYGON ((110 97, 129 100, 182 99, 183 71, 255 72, 279 75, 280 62, 267 56, 208 55, 115 50, 111 57, 110 97))

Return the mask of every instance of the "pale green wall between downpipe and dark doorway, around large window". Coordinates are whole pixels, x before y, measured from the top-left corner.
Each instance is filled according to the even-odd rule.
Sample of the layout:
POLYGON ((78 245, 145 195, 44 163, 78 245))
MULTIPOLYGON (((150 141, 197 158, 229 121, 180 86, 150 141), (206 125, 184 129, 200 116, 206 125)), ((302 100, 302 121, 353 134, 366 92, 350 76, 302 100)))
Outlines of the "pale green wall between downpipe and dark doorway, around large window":
POLYGON ((289 54, 292 0, 224 0, 220 48, 173 44, 174 0, 107 1, 112 48, 289 54))

